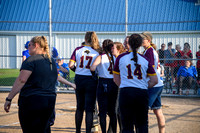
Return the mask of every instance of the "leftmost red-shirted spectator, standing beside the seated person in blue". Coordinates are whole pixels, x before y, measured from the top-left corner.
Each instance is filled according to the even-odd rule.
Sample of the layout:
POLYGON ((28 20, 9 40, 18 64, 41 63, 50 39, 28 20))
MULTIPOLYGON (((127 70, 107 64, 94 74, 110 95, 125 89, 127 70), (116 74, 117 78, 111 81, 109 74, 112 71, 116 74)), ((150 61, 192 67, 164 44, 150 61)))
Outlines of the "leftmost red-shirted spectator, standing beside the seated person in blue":
POLYGON ((181 66, 184 66, 184 61, 181 60, 183 58, 183 52, 181 51, 181 46, 179 44, 176 45, 175 58, 178 60, 174 61, 174 77, 176 77, 178 69, 181 66))

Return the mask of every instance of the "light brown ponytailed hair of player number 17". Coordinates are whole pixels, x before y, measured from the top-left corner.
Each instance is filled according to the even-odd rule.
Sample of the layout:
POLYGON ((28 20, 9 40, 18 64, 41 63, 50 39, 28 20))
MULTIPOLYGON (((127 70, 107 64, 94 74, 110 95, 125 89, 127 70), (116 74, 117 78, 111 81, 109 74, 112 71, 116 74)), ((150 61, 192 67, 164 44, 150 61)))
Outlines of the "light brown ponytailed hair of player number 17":
POLYGON ((85 34, 86 44, 90 44, 91 47, 97 51, 100 50, 99 39, 94 31, 88 31, 85 34))

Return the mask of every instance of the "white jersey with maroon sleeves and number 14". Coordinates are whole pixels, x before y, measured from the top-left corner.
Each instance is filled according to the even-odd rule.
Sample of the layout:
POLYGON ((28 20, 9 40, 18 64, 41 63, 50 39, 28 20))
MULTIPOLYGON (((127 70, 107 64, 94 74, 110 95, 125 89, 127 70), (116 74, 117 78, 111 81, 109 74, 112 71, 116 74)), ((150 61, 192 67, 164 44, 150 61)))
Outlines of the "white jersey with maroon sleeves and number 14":
POLYGON ((135 66, 135 62, 132 60, 133 52, 126 52, 117 57, 113 73, 120 74, 121 83, 119 88, 135 87, 147 89, 147 75, 156 75, 147 58, 138 53, 137 57, 138 67, 135 66))

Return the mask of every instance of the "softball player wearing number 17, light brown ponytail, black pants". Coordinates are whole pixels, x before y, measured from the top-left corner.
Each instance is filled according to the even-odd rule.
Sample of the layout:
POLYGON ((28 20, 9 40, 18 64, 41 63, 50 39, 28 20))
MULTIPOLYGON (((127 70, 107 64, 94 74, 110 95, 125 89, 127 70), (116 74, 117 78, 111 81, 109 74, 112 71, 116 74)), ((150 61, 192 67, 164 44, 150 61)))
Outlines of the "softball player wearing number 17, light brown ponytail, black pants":
POLYGON ((76 84, 76 133, 81 130, 83 112, 86 112, 86 132, 91 132, 96 101, 97 81, 92 77, 90 66, 99 55, 99 41, 95 32, 85 34, 85 45, 77 47, 70 59, 69 68, 75 71, 76 84), (75 67, 76 63, 76 67, 75 67))

